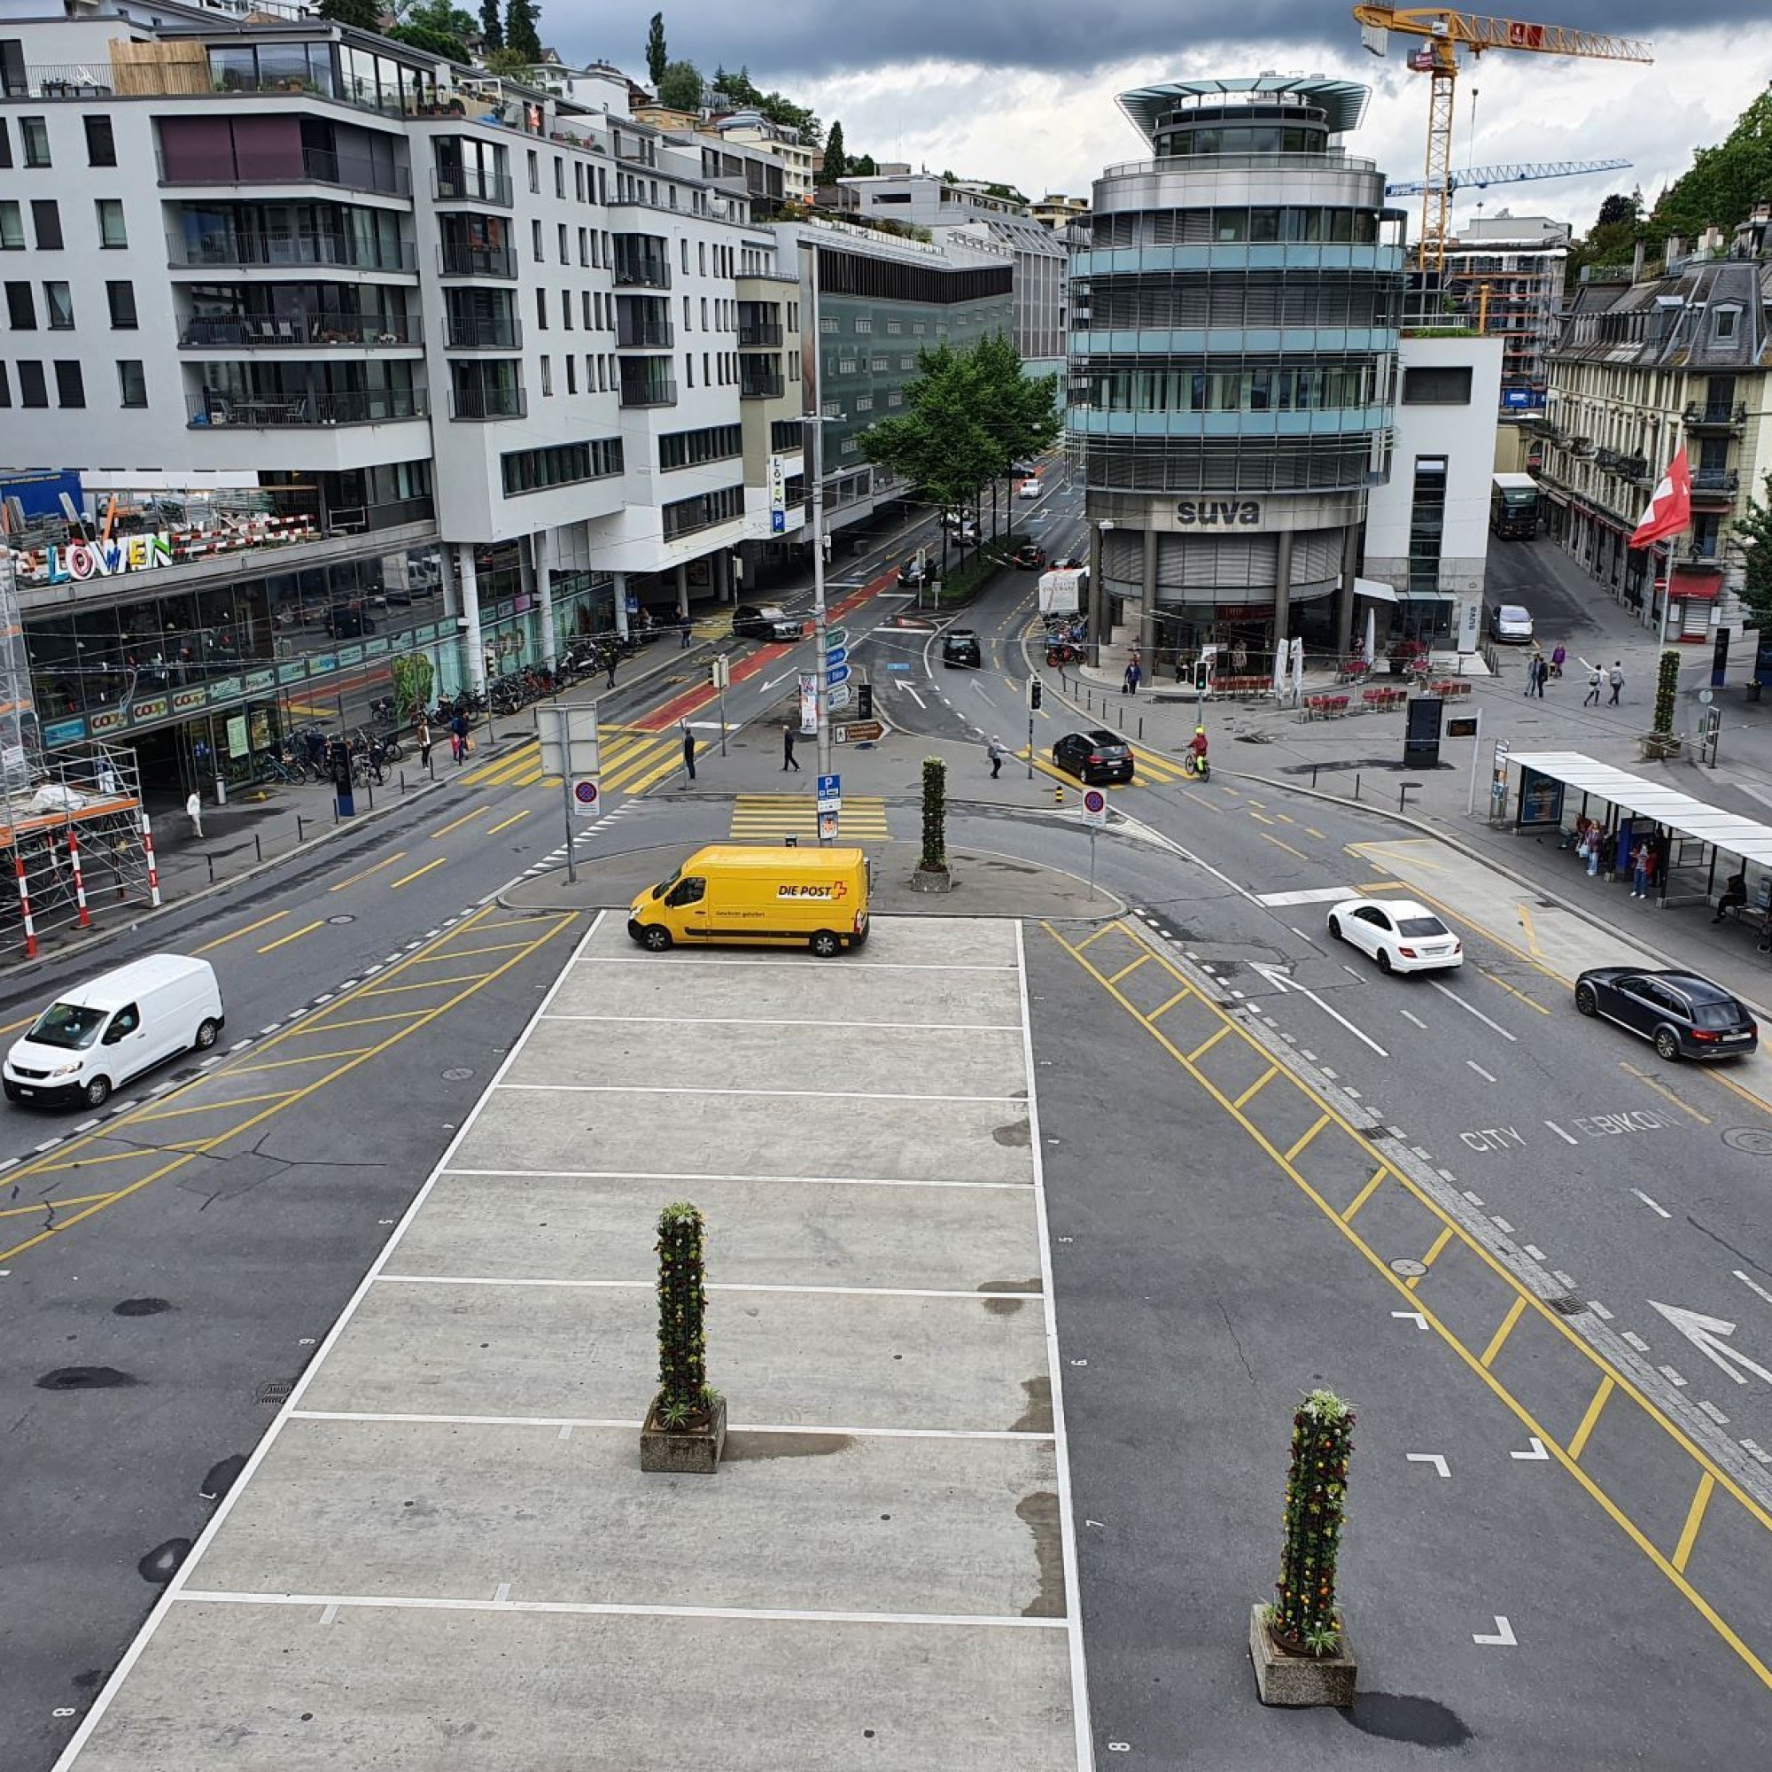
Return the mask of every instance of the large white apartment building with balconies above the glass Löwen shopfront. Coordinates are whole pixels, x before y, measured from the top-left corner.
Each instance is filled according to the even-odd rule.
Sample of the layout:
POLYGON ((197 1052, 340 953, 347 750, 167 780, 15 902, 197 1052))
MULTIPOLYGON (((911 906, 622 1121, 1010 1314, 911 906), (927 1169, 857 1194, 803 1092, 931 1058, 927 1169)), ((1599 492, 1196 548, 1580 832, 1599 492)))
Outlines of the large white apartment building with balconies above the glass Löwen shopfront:
POLYGON ((799 533, 797 262, 613 71, 585 105, 321 19, 28 14, 0 480, 46 744, 248 764, 397 661, 478 684, 799 533))

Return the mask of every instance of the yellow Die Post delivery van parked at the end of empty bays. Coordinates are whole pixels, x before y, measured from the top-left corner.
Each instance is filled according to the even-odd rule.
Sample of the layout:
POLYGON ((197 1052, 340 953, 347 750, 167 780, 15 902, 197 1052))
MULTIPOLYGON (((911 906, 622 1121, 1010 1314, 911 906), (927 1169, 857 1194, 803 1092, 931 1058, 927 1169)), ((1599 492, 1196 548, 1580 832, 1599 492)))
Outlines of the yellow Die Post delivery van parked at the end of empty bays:
POLYGON ((633 902, 627 934, 654 953, 735 943, 829 959, 868 939, 868 872, 859 849, 698 849, 633 902))

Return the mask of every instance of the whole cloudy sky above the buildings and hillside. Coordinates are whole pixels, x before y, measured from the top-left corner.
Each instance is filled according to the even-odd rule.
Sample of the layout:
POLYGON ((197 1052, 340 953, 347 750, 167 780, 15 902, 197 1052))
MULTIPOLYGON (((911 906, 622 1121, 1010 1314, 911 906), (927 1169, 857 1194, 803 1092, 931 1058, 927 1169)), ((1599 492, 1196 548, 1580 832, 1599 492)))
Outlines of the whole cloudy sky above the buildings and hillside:
MULTIPOLYGON (((647 21, 657 0, 544 0, 542 35, 576 60, 602 57, 645 82, 647 21)), ((842 119, 851 152, 907 159, 1028 195, 1088 195, 1115 161, 1145 158, 1113 97, 1198 74, 1327 73, 1366 82, 1373 103, 1350 147, 1395 177, 1419 175, 1426 82, 1359 44, 1338 0, 666 0, 672 58, 712 73, 748 66, 824 119, 842 119), (1228 37, 1219 21, 1233 11, 1228 37), (1187 14, 1200 16, 1194 23, 1187 14)), ((1460 198, 1485 213, 1566 216, 1584 229, 1611 190, 1655 191, 1722 140, 1772 73, 1765 0, 1545 0, 1527 18, 1653 39, 1655 62, 1492 53, 1460 78, 1455 165, 1628 158, 1632 172, 1517 184, 1460 198), (1669 30, 1671 19, 1685 28, 1669 30), (1473 129, 1473 94, 1474 129, 1473 129)), ((1722 218, 1719 218, 1722 220, 1722 218)), ((1738 220, 1735 216, 1726 220, 1738 220)))

